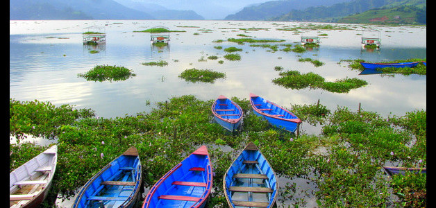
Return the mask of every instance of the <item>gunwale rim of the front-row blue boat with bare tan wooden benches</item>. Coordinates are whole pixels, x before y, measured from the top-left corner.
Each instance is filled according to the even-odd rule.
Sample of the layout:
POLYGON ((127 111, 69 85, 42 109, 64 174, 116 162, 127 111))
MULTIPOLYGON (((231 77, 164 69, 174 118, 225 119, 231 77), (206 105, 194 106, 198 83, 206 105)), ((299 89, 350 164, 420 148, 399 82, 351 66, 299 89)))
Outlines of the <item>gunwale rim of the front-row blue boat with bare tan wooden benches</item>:
MULTIPOLYGON (((224 176, 223 176, 223 192, 224 192, 224 197, 226 198, 228 206, 229 207, 233 207, 232 202, 230 202, 230 196, 228 196, 228 194, 227 194, 227 190, 228 190, 227 187, 226 187, 227 173, 228 173, 228 171, 230 171, 230 168, 236 162, 236 160, 240 157, 240 155, 242 155, 242 153, 244 153, 244 151, 248 151, 248 150, 257 151, 257 152, 260 153, 260 155, 262 155, 262 157, 264 157, 264 159, 267 162, 269 168, 271 169, 272 175, 274 175, 274 177, 276 178, 276 186, 275 186, 275 189, 273 189, 273 192, 271 193, 272 201, 271 201, 271 203, 268 202, 269 203, 268 207, 272 207, 274 205, 274 203, 276 202, 277 191, 278 191, 278 188, 279 188, 279 186, 278 186, 278 178, 277 178, 276 172, 274 171, 274 168, 272 168, 271 164, 269 164, 267 157, 265 157, 265 155, 263 155, 263 153, 260 151, 260 149, 257 146, 255 146, 255 148, 257 148, 257 150, 248 149, 247 147, 249 147, 249 146, 255 146, 255 144, 252 141, 250 141, 249 144, 247 144, 244 147, 244 149, 242 151, 240 151, 240 153, 235 157, 235 159, 233 159, 233 162, 230 164, 230 166, 228 166, 226 173, 224 173, 224 176), (274 191, 276 191, 276 195, 273 197, 272 194, 274 193, 274 191)), ((269 180, 269 178, 268 178, 268 180, 269 180)), ((230 187, 230 184, 229 184, 229 187, 230 187)))

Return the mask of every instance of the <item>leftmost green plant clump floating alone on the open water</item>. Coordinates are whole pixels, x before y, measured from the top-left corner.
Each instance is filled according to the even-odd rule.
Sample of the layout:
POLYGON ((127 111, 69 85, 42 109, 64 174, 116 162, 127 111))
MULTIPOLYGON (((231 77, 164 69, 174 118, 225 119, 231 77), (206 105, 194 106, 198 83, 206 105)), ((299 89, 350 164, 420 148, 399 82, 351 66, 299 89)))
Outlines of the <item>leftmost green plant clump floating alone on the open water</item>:
POLYGON ((86 73, 78 73, 78 77, 83 77, 87 81, 119 81, 136 76, 131 69, 109 65, 97 65, 86 73))

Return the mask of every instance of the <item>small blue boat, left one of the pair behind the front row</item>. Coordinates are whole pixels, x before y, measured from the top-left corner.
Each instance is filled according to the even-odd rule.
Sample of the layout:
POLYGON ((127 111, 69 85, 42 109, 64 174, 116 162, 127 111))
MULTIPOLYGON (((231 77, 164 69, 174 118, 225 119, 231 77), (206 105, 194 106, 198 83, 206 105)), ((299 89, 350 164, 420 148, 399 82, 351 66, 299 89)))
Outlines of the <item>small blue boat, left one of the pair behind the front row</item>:
POLYGON ((220 95, 212 104, 215 121, 230 132, 241 127, 242 108, 226 96, 220 95))

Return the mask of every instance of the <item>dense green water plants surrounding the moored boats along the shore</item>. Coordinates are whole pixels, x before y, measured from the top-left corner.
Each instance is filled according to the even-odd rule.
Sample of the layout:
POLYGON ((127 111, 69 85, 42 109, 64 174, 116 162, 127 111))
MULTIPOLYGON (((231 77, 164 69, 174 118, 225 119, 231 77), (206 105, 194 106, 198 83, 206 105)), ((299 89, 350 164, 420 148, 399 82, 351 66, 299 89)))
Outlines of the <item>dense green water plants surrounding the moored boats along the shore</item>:
MULTIPOLYGON (((229 135, 212 121, 213 100, 192 95, 156 103, 151 112, 111 119, 91 109, 10 98, 10 171, 47 147, 22 141, 26 135, 57 139, 59 156, 53 187, 45 207, 56 196, 70 198, 103 166, 135 146, 143 166, 143 186, 151 187, 170 168, 206 144, 214 168, 214 191, 207 207, 226 207, 222 177, 235 155, 249 141, 258 146, 280 177, 315 184, 306 190, 319 207, 426 207, 426 174, 387 177, 382 166, 426 167, 426 110, 380 116, 347 107, 327 109, 321 103, 292 105, 304 123, 322 125, 320 135, 295 137, 270 128, 251 111, 247 98, 231 98, 245 112, 242 131, 229 135), (35 112, 37 112, 35 114, 35 112), (230 147, 224 152, 222 147, 230 147)), ((295 183, 280 184, 278 203, 301 191, 295 183)))

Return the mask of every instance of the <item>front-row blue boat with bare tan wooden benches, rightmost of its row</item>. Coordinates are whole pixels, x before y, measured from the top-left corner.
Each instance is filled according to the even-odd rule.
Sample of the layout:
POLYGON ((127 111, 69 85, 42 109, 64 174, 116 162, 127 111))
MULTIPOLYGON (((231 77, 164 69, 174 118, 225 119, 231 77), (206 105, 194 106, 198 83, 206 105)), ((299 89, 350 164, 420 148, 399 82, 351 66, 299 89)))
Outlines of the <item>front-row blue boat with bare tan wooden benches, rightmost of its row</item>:
POLYGON ((273 168, 253 142, 247 144, 224 174, 224 195, 229 207, 272 207, 278 181, 273 168))

